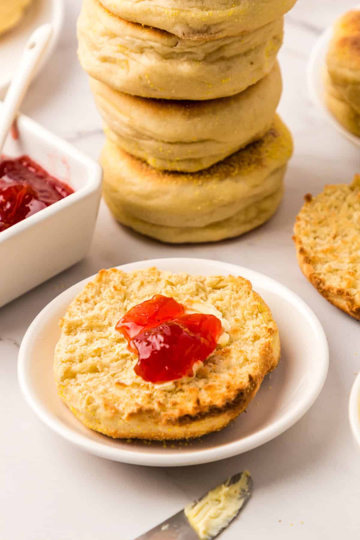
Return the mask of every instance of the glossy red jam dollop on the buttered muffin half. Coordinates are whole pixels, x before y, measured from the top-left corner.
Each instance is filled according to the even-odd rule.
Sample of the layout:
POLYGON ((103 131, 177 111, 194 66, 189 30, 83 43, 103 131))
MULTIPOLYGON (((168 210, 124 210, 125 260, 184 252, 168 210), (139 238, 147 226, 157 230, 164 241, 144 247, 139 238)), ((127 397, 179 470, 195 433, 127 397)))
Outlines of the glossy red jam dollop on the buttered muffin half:
POLYGON ((138 355, 135 373, 153 383, 192 375, 195 362, 213 352, 221 321, 202 313, 184 315, 184 306, 157 294, 128 311, 116 325, 128 349, 138 355))

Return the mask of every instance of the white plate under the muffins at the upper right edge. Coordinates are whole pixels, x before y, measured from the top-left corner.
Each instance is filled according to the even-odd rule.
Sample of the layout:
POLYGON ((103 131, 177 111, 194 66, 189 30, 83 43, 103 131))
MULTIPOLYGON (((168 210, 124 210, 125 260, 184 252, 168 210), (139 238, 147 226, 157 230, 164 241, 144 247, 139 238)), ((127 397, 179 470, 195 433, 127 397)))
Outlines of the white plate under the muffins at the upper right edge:
MULTIPOLYGON (((360 5, 356 5, 352 9, 360 9, 360 5)), ((311 52, 307 72, 310 97, 314 104, 323 111, 330 124, 334 126, 345 139, 348 139, 355 146, 360 147, 360 137, 357 137, 345 129, 345 127, 337 121, 335 116, 331 114, 325 103, 324 72, 326 70, 326 57, 331 37, 332 26, 322 33, 311 52)))

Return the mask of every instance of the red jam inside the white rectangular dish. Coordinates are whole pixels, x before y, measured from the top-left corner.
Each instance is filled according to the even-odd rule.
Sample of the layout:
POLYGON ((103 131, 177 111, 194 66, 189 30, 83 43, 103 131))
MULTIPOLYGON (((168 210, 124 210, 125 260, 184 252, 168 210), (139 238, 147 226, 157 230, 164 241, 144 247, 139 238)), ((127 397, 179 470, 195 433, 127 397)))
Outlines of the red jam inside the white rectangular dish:
POLYGON ((0 163, 0 232, 73 193, 28 156, 0 163))

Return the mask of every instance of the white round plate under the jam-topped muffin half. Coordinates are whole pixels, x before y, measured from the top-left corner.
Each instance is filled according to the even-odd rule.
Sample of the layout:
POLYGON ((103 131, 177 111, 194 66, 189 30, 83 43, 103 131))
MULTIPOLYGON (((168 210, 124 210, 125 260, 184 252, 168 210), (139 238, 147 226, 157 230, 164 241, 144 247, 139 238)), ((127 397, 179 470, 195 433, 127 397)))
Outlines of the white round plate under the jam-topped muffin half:
POLYGON ((293 426, 320 393, 328 372, 329 349, 324 330, 311 309, 277 281, 248 268, 205 259, 155 259, 119 266, 130 272, 157 266, 173 273, 235 274, 248 278, 273 312, 280 330, 279 367, 263 382, 247 414, 227 428, 185 444, 162 445, 114 440, 87 429, 57 395, 52 363, 60 337, 58 321, 91 278, 57 296, 32 322, 21 344, 18 377, 35 413, 59 435, 79 448, 110 460, 173 467, 222 460, 266 443, 293 426), (271 387, 271 388, 269 388, 271 387))

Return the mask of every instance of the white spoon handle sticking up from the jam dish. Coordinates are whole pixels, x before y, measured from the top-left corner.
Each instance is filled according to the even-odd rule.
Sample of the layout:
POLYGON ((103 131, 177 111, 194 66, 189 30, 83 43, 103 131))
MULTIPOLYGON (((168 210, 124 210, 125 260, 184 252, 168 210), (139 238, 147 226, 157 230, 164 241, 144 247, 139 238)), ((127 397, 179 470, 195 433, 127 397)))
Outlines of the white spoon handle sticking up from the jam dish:
POLYGON ((52 34, 52 25, 44 24, 33 32, 28 43, 26 43, 23 56, 19 62, 18 69, 9 86, 8 92, 1 108, 0 116, 0 155, 3 150, 6 136, 10 130, 13 119, 21 105, 28 90, 34 71, 37 68, 39 59, 52 34))

